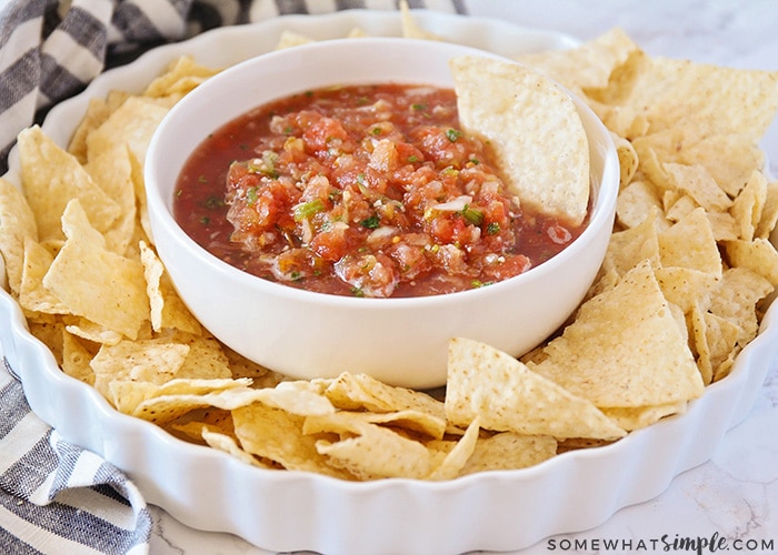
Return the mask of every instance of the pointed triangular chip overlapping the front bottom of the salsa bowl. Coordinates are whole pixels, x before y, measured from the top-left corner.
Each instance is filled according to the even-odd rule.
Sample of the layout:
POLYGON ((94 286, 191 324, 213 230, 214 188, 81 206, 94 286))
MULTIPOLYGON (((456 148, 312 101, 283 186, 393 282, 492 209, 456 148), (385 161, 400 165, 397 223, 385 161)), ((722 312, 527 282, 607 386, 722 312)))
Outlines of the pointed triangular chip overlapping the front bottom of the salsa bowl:
POLYGON ((449 342, 446 415, 463 426, 478 420, 497 432, 562 438, 625 435, 588 400, 502 351, 461 337, 449 342))

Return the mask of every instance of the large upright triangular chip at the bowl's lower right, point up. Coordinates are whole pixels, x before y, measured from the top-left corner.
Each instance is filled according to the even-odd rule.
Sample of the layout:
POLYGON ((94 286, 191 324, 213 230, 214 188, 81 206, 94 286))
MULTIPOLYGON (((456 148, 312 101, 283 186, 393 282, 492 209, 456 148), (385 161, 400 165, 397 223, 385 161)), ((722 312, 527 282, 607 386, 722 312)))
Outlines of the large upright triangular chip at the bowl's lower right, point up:
POLYGON ((649 262, 581 305, 545 354, 535 372, 599 407, 662 405, 705 390, 649 262))

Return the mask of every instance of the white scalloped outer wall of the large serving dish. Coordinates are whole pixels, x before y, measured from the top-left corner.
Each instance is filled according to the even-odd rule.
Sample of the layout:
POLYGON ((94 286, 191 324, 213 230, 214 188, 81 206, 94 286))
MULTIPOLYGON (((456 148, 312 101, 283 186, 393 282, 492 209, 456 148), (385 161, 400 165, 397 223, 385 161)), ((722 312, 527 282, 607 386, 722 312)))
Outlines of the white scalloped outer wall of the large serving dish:
MULTIPOLYGON (((577 43, 559 33, 495 20, 425 11, 413 16, 447 39, 505 56, 577 43)), ((184 53, 201 63, 225 65, 270 50, 282 30, 327 39, 355 27, 371 34, 401 31, 398 13, 361 10, 217 29, 106 72, 83 93, 51 110, 43 129, 67 144, 89 98, 110 89, 137 90, 184 53)), ((13 157, 11 165, 18 168, 13 157)), ((13 172, 7 176, 14 179, 13 172)), ((768 310, 759 335, 738 355, 731 374, 709 386, 685 414, 611 445, 563 453, 530 468, 432 483, 350 483, 266 471, 179 441, 153 424, 118 413, 96 390, 62 373, 51 352, 29 333, 21 310, 4 290, 0 343, 30 406, 43 421, 64 440, 126 472, 147 502, 188 526, 233 533, 279 552, 462 553, 521 549, 551 535, 598 526, 618 509, 659 495, 676 475, 709 460, 724 434, 747 415, 770 367, 778 344, 776 311, 768 310), (580 511, 584 506, 587 509, 580 511)))

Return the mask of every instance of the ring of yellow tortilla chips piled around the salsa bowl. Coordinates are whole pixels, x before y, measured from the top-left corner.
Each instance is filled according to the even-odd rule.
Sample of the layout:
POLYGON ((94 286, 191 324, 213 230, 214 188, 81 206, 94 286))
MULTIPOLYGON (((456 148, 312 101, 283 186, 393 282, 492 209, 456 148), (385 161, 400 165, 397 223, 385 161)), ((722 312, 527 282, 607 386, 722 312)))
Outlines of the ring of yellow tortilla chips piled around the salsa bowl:
POLYGON ((600 275, 520 361, 452 339, 440 397, 351 373, 287 381, 210 336, 144 216, 151 133, 213 73, 189 58, 142 93, 93 100, 68 149, 39 128, 19 135, 0 252, 30 332, 122 413, 251 465, 349 481, 522 468, 681 413, 727 376, 778 284, 778 182, 757 144, 778 73, 650 58, 620 30, 520 61, 585 99, 621 161, 600 275))

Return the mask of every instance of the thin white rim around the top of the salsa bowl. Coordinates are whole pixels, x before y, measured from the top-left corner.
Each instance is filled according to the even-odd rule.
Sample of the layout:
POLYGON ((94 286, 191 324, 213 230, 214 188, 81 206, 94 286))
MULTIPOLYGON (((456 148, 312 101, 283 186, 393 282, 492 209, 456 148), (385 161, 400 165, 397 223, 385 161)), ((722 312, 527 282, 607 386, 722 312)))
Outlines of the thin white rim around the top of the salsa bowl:
MULTIPOLYGON (((482 50, 479 48, 457 43, 437 42, 423 39, 406 39, 401 37, 368 37, 360 38, 358 40, 360 44, 360 50, 366 48, 366 46, 385 49, 390 46, 397 47, 398 44, 402 44, 402 48, 408 49, 446 49, 457 51, 460 53, 480 54, 488 58, 501 59, 521 65, 520 62, 511 60, 510 58, 496 54, 493 52, 482 50)), ((300 44, 295 47, 293 49, 281 49, 260 53, 256 57, 243 60, 235 65, 231 65, 230 68, 225 69, 217 75, 213 75, 208 81, 200 84, 189 94, 187 94, 176 105, 173 105, 173 108, 162 119, 161 123, 158 125, 157 130, 154 131, 151 138, 146 159, 146 165, 143 169, 149 216, 151 219, 153 230, 158 233, 160 231, 168 233, 170 239, 172 239, 180 248, 189 252, 193 258, 197 258, 200 261, 200 263, 210 266, 215 272, 226 274, 230 279, 230 281, 236 281, 241 285, 253 286, 257 287, 259 291, 267 292, 268 294, 272 294, 281 299, 290 299, 300 302, 316 302, 321 305, 332 305, 338 309, 353 307, 359 310, 380 311, 389 309, 399 309, 403 306, 418 309, 435 309, 440 304, 448 304, 453 302, 453 299, 456 299, 458 302, 465 302, 469 299, 477 301, 479 297, 485 295, 499 294, 505 289, 518 287, 528 281, 542 280, 547 274, 555 272, 557 270, 557 266, 562 264, 567 259, 576 256, 580 253, 581 250, 585 250, 588 243, 592 240, 594 235, 597 235, 602 226, 612 226, 616 212, 616 198, 618 195, 619 190, 619 162, 612 138, 608 132, 607 128, 600 121, 600 119, 597 118, 595 112, 591 110, 591 108, 589 108, 580 98, 573 94, 568 88, 563 87, 561 83, 553 81, 562 91, 565 91, 565 93, 568 97, 572 99, 581 119, 584 120, 586 118, 590 120, 590 124, 592 124, 597 129, 598 134, 601 135, 601 140, 604 140, 607 148, 606 151, 601 153, 602 171, 599 173, 599 175, 597 175, 599 179, 592 180, 590 178, 591 189, 589 195, 589 211, 586 219, 586 226, 581 231, 580 235, 577 236, 570 244, 568 244, 562 251, 555 254, 552 258, 543 261, 537 266, 530 268, 528 271, 519 275, 515 275, 512 278, 491 283, 488 286, 456 291, 451 293, 387 299, 357 297, 321 293, 317 291, 306 290, 302 287, 293 287, 280 282, 265 280, 257 275, 250 274, 249 272, 240 270, 229 264, 228 262, 222 261, 217 255, 212 254, 210 251, 199 245, 191 236, 189 236, 189 234, 186 231, 183 231, 183 229, 176 221, 176 218, 168 208, 169 203, 162 198, 161 188, 158 185, 156 175, 153 174, 156 165, 161 162, 161 160, 159 160, 158 158, 158 145, 164 139, 163 135, 168 127, 171 124, 170 122, 174 120, 180 112, 184 111, 189 103, 196 102, 201 97, 206 97, 211 92, 211 89, 221 87, 221 82, 231 79, 233 75, 241 74, 243 71, 247 70, 247 68, 253 68, 253 65, 258 63, 267 63, 268 61, 272 61, 278 58, 300 58, 302 54, 309 51, 319 51, 322 49, 340 49, 345 46, 351 47, 353 44, 355 39, 329 39, 308 44, 300 44), (595 181, 598 182, 595 183, 595 181)), ((395 81, 389 79, 387 82, 395 81)), ((333 82, 333 84, 337 84, 337 82, 333 82)), ((283 95, 278 98, 283 98, 286 94, 293 94, 295 92, 299 92, 301 90, 305 90, 305 88, 298 88, 293 90, 290 89, 288 93, 285 93, 283 95)), ((258 108, 263 103, 266 102, 258 103, 257 107, 253 108, 258 108)), ((246 113, 249 110, 252 110, 253 108, 249 107, 241 113, 246 113)), ((226 124, 229 121, 232 121, 232 119, 222 122, 221 124, 217 125, 216 129, 218 129, 220 125, 226 124)), ((591 152, 592 147, 588 129, 587 140, 591 152)), ((162 259, 162 256, 163 253, 160 253, 160 259, 162 259)), ((162 261, 164 262, 164 260, 162 261)))

